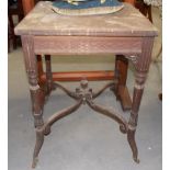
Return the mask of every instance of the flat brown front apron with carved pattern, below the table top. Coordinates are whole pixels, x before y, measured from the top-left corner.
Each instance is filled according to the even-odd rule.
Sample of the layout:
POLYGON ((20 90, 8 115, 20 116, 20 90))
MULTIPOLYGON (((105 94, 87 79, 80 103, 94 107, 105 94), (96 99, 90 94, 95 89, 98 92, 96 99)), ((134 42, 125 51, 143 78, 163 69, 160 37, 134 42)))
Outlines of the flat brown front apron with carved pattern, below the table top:
POLYGON ((140 54, 143 37, 34 36, 35 54, 140 54))

